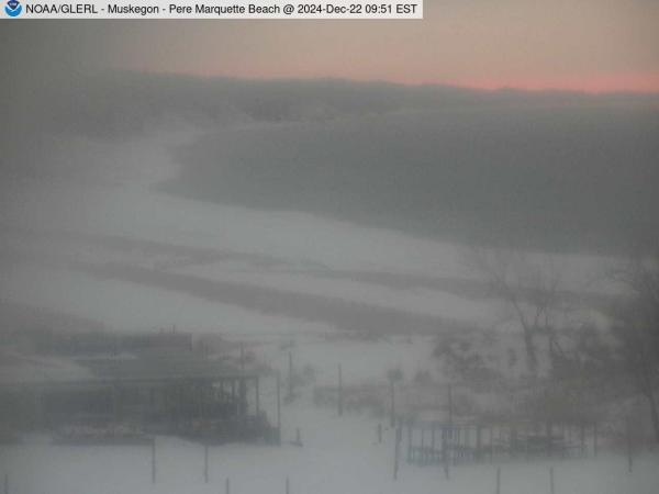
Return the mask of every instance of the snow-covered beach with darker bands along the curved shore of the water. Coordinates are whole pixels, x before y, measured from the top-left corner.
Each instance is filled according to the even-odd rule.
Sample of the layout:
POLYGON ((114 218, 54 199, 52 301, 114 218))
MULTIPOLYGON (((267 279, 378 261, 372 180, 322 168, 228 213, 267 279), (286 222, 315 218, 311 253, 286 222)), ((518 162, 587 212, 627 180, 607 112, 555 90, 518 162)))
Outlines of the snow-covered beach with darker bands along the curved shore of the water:
MULTIPOLYGON (((2 198, 0 213, 9 227, 0 245, 0 300, 122 330, 171 325, 231 333, 353 329, 370 318, 371 307, 399 317, 402 327, 387 328, 396 330, 414 326, 404 327, 410 315, 425 318, 418 325, 423 330, 442 322, 489 327, 502 318, 495 301, 451 285, 451 280, 480 282, 467 267, 463 246, 158 191, 178 167, 169 151, 194 137, 186 131, 115 144, 75 142, 69 158, 81 160, 80 169, 88 162, 94 172, 13 188, 2 198), (221 282, 231 290, 200 296, 181 289, 180 280, 145 282, 109 272, 108 263, 221 282), (90 272, 99 266, 105 272, 90 272), (260 291, 243 300, 226 296, 236 287, 260 291), (269 293, 286 297, 277 310, 261 303, 269 293), (302 315, 301 294, 330 304, 333 314, 357 312, 349 324, 333 315, 302 315)), ((611 290, 602 283, 610 262, 578 255, 547 260, 559 269, 560 287, 578 292, 611 290)), ((372 319, 369 327, 379 325, 372 319)))

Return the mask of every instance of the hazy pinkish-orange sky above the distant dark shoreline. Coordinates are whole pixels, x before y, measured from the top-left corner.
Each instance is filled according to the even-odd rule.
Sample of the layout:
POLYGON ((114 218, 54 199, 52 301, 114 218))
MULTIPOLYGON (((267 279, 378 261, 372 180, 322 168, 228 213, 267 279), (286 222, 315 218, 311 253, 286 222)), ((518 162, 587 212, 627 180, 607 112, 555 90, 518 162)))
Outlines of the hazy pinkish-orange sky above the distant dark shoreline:
POLYGON ((659 91, 659 2, 654 0, 427 0, 423 21, 8 24, 0 37, 13 72, 42 70, 47 78, 119 68, 484 89, 659 91))

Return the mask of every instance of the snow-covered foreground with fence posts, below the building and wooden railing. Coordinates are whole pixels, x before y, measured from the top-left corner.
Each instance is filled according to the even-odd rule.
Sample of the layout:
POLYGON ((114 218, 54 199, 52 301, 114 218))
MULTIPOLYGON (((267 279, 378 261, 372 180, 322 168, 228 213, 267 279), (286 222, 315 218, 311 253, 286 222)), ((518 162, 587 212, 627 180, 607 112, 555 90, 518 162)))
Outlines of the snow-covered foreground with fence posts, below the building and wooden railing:
POLYGON ((550 492, 549 468, 555 471, 558 494, 654 494, 659 486, 659 458, 640 456, 633 473, 622 456, 596 459, 543 460, 459 465, 450 479, 437 467, 401 462, 392 479, 393 442, 390 430, 376 441, 376 422, 365 416, 337 417, 306 403, 284 407, 283 439, 302 430, 303 447, 226 445, 209 451, 209 483, 204 483, 203 447, 180 439, 156 440, 156 483, 152 484, 148 446, 67 447, 31 438, 21 446, 2 447, 0 473, 9 474, 12 494, 110 493, 224 493, 230 478, 235 494, 491 494, 496 467, 501 467, 501 492, 550 492))

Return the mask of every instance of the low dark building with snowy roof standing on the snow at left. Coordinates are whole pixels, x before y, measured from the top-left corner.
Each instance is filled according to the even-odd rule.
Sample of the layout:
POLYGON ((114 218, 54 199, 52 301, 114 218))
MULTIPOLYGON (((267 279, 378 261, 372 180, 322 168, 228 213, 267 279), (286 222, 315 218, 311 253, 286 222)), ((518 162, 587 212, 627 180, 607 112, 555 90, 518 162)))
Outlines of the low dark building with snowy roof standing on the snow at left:
MULTIPOLYGON (((141 344, 135 339, 133 347, 141 344)), ((206 441, 275 437, 260 409, 259 375, 191 351, 5 353, 0 366, 0 423, 12 428, 49 429, 72 441, 146 434, 206 441)))

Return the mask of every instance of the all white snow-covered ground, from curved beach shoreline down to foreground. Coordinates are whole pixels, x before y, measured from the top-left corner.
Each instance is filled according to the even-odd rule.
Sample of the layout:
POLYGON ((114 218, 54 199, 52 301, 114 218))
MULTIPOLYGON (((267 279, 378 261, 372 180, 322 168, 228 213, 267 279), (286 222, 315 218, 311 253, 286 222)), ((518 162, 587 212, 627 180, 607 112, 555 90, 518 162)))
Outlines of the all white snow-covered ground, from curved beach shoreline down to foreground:
MULTIPOLYGON (((432 336, 345 337, 354 328, 380 328, 394 321, 398 330, 455 329, 459 324, 488 329, 501 318, 495 301, 439 282, 474 280, 465 266, 463 247, 157 191, 154 186, 176 170, 168 146, 190 138, 91 146, 89 156, 102 165, 101 179, 31 183, 13 190, 14 198, 3 198, 1 220, 15 231, 1 239, 0 301, 87 317, 120 330, 176 325, 221 334, 248 341, 259 361, 284 375, 289 348, 282 345, 294 339, 290 351, 295 369, 312 368, 317 385, 333 385, 339 363, 346 385, 381 383, 394 368, 407 382, 418 372, 442 379, 432 336), (310 304, 317 313, 310 314, 310 304)), ((606 292, 608 287, 594 282, 610 261, 558 256, 550 263, 560 265, 566 289, 606 292)), ((272 400, 272 390, 265 389, 263 405, 270 418, 272 400)), ((457 467, 447 481, 437 468, 403 462, 393 482, 391 431, 386 430, 382 445, 376 444, 377 418, 354 413, 337 417, 333 409, 316 407, 311 385, 284 405, 282 420, 281 448, 211 448, 209 484, 203 482, 202 447, 167 437, 157 438, 155 484, 148 447, 66 447, 44 437, 0 447, 0 475, 9 475, 11 494, 217 493, 224 492, 227 476, 231 492, 238 494, 283 493, 287 476, 291 493, 495 492, 492 464, 457 467), (297 428, 302 448, 288 442, 297 428)), ((501 492, 549 493, 552 465, 556 493, 655 493, 658 460, 638 458, 633 474, 625 458, 605 454, 506 462, 501 492)))

